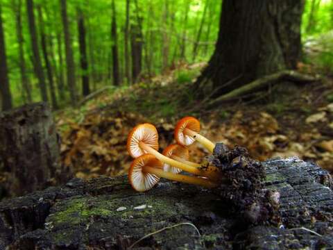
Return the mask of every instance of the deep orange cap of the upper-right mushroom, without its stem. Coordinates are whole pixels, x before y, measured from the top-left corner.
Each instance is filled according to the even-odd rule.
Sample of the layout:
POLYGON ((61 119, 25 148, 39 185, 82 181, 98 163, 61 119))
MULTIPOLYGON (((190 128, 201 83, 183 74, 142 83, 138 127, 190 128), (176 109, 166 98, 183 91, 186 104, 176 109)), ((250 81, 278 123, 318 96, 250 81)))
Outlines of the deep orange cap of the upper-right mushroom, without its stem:
POLYGON ((188 128, 191 131, 200 133, 200 122, 194 117, 184 117, 178 121, 175 128, 175 139, 176 141, 183 145, 191 145, 195 140, 189 135, 183 133, 184 129, 188 128))

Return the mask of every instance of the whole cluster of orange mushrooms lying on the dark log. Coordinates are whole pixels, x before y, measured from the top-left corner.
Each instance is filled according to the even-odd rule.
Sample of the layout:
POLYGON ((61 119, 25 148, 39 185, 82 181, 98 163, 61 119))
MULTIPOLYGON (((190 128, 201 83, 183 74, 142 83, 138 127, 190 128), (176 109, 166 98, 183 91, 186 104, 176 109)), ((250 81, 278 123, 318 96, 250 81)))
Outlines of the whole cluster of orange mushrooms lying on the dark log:
POLYGON ((174 137, 177 144, 171 144, 158 151, 158 133, 152 124, 139 124, 130 131, 127 149, 130 156, 135 158, 128 170, 128 180, 132 187, 144 192, 150 190, 160 180, 167 178, 171 181, 201 185, 214 188, 219 185, 221 172, 217 167, 200 165, 189 161, 187 146, 195 141, 213 153, 215 144, 200 135, 200 122, 194 117, 184 117, 176 124, 174 137), (191 175, 179 174, 187 172, 191 175))

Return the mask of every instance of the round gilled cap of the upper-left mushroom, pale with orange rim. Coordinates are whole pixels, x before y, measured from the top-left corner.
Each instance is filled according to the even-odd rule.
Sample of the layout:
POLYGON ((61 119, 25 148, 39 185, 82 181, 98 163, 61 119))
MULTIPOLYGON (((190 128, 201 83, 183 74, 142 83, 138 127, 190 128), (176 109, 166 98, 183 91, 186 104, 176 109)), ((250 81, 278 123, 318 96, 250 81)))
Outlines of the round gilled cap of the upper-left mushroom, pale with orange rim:
POLYGON ((144 142, 149 147, 158 150, 158 133, 153 124, 139 124, 128 134, 127 150, 133 158, 147 153, 139 147, 139 142, 144 142))

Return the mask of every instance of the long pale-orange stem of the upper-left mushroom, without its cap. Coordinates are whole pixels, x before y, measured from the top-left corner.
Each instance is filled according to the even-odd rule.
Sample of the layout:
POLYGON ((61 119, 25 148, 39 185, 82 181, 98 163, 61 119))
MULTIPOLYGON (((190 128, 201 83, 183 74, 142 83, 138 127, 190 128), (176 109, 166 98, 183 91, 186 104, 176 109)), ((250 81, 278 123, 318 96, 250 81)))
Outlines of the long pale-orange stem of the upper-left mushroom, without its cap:
POLYGON ((151 153, 153 156, 155 156, 158 160, 160 160, 162 163, 167 163, 173 167, 178 167, 179 169, 182 169, 185 172, 189 172, 191 174, 195 174, 198 176, 206 176, 208 178, 214 178, 216 179, 219 176, 219 172, 216 171, 216 169, 207 168, 205 170, 199 169, 197 167, 193 167, 190 165, 187 165, 185 163, 180 163, 177 160, 173 160, 167 156, 162 155, 162 153, 156 151, 155 149, 149 147, 144 142, 139 142, 139 147, 142 148, 147 153, 151 153))

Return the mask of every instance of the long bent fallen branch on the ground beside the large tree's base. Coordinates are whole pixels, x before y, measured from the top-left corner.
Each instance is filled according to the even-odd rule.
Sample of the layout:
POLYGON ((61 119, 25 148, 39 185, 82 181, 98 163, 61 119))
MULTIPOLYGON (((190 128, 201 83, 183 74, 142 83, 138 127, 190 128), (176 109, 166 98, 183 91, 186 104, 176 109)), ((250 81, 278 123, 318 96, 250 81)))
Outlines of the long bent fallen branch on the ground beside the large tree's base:
POLYGON ((223 95, 221 95, 221 97, 218 97, 218 98, 210 101, 210 103, 208 103, 208 105, 212 106, 216 103, 220 103, 223 101, 229 101, 231 99, 242 97, 245 94, 248 94, 255 90, 260 90, 262 88, 265 88, 267 85, 273 85, 275 83, 278 83, 278 82, 284 81, 284 80, 292 81, 292 82, 296 82, 296 83, 310 83, 310 82, 318 81, 318 78, 313 77, 313 76, 307 76, 305 74, 300 74, 293 70, 284 70, 282 72, 264 76, 251 83, 243 85, 240 88, 237 88, 236 90, 232 90, 231 92, 228 92, 227 94, 223 94, 223 95))

